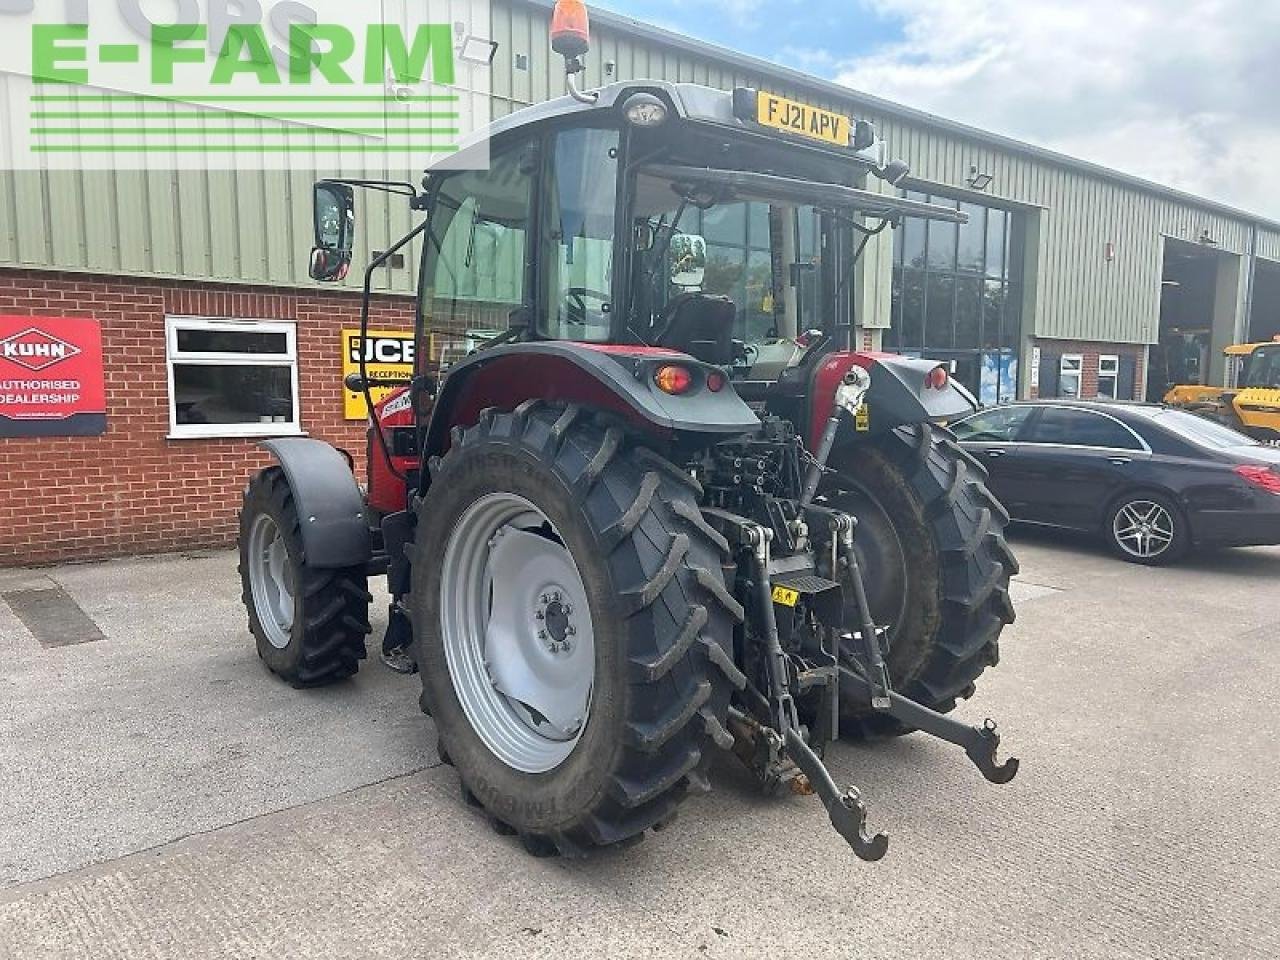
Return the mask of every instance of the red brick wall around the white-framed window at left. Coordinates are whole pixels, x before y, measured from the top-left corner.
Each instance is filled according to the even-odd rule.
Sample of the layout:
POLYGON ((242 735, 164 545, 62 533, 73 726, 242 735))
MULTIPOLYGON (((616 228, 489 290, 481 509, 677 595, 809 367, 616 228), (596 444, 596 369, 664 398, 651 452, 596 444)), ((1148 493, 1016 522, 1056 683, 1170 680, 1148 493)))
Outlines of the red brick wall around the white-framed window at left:
MULTIPOLYGON (((0 566, 236 539, 241 490, 269 457, 253 440, 168 439, 166 315, 296 320, 302 429, 348 449, 364 475, 340 349, 358 294, 0 270, 0 314, 99 320, 108 402, 104 436, 0 439, 0 566)), ((411 300, 374 302, 374 326, 412 329, 412 317, 411 300)))

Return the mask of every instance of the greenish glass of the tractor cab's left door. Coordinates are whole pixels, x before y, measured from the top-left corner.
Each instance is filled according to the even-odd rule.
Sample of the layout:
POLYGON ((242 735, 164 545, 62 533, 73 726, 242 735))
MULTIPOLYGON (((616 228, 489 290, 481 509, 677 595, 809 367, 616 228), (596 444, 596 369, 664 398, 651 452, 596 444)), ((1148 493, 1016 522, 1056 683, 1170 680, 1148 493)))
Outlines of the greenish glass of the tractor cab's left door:
POLYGON ((506 330, 525 303, 525 248, 536 166, 527 147, 495 154, 488 170, 440 186, 422 270, 431 330, 506 330))

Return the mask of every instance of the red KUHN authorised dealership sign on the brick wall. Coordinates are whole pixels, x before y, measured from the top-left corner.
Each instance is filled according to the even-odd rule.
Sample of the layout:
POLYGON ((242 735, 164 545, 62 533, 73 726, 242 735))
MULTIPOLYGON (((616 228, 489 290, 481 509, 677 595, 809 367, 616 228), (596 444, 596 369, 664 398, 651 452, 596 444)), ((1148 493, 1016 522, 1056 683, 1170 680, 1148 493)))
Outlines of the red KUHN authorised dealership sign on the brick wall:
POLYGON ((104 433, 97 320, 0 316, 0 436, 104 433))

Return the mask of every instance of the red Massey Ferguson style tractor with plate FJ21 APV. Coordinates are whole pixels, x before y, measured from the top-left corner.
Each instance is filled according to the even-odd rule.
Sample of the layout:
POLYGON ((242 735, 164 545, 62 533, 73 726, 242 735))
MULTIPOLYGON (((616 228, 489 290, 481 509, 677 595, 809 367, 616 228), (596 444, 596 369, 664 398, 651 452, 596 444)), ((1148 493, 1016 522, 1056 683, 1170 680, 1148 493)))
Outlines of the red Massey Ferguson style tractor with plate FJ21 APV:
POLYGON ((477 302, 506 332, 370 397, 364 485, 319 440, 264 444, 241 515, 257 652, 298 687, 351 677, 385 575, 384 649, 410 650, 463 799, 530 852, 660 829, 728 751, 877 860, 833 741, 919 731, 993 783, 1018 769, 992 721, 946 716, 1014 620, 1009 515, 945 426, 975 402, 852 343, 868 239, 963 215, 899 197, 869 123, 749 88, 586 91, 582 4, 552 32, 564 97, 421 191, 315 187, 317 280, 348 273, 356 188, 424 214, 370 262, 366 329, 374 271, 421 238, 417 339, 477 302))

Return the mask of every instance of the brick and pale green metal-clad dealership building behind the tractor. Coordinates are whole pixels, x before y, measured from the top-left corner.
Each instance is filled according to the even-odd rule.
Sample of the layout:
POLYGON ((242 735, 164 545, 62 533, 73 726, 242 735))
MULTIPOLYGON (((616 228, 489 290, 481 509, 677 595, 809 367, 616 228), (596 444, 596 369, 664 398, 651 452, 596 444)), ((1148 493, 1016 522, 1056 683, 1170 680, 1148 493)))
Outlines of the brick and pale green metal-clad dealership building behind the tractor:
MULTIPOLYGON (((562 93, 549 12, 494 0, 495 115, 562 93)), ((1156 397, 1220 381, 1224 346, 1280 333, 1277 223, 628 18, 596 12, 594 33, 589 84, 753 86, 873 120, 913 168, 908 193, 970 219, 908 223, 869 244, 861 343, 954 361, 987 402, 1156 397)), ((96 320, 106 392, 102 435, 0 439, 0 563, 228 543, 266 433, 306 431, 362 458, 358 406, 348 419, 340 385, 357 284, 306 276, 314 177, 0 175, 0 315, 96 320), (250 422, 209 422, 219 417, 193 411, 218 389, 276 401, 250 422)), ((412 219, 374 200, 364 221, 357 262, 412 219)), ((751 230, 724 229, 721 255, 748 268, 751 230)), ((378 280, 374 325, 392 343, 415 284, 412 256, 378 280)), ((477 303, 439 333, 488 323, 477 303)))

